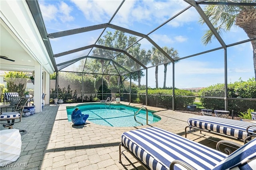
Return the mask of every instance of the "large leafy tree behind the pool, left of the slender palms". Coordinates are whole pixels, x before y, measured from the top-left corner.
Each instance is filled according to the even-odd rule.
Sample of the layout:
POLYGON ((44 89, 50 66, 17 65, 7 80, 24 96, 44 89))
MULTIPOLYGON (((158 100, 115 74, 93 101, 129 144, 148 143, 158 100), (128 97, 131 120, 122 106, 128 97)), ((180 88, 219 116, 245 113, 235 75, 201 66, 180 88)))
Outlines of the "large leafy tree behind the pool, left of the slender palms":
MULTIPOLYGON (((106 34, 103 36, 103 38, 99 39, 98 45, 103 45, 106 47, 112 47, 112 48, 124 50, 127 47, 129 47, 130 45, 132 45, 133 43, 135 43, 136 41, 137 41, 137 37, 135 37, 135 36, 127 37, 125 35, 125 33, 122 31, 117 30, 114 33, 107 31, 106 34)), ((146 51, 145 49, 140 49, 140 46, 141 46, 140 43, 136 43, 135 45, 132 45, 132 47, 129 47, 127 52, 130 55, 132 55, 134 58, 136 58, 138 61, 141 61, 144 64, 148 64, 148 62, 150 61, 150 51, 146 51)), ((144 76, 144 74, 140 71, 141 66, 140 66, 140 64, 138 64, 135 61, 133 61, 132 59, 130 59, 127 55, 125 55, 123 53, 119 54, 119 52, 110 51, 110 50, 106 50, 106 49, 100 49, 100 48, 95 48, 92 52, 93 52, 92 55, 95 57, 104 57, 107 59, 112 59, 116 56, 113 60, 116 61, 117 63, 119 63, 120 65, 124 66, 124 68, 127 68, 128 70, 134 70, 134 71, 138 70, 137 76, 132 76, 132 78, 133 78, 133 80, 134 79, 138 80, 138 82, 140 84, 141 76, 144 76)), ((107 64, 104 64, 102 62, 102 60, 95 61, 95 62, 100 62, 101 69, 104 66, 104 70, 106 70, 106 72, 117 74, 117 71, 115 70, 114 66, 112 66, 112 64, 108 64, 108 66, 107 66, 107 64)), ((96 64, 94 64, 94 65, 96 65, 96 64)), ((99 69, 99 68, 94 67, 92 69, 99 69)), ((101 71, 103 71, 103 69, 101 71)), ((120 69, 118 72, 120 74, 122 74, 122 73, 124 73, 122 71, 124 71, 124 70, 120 69)), ((105 78, 107 80, 110 80, 111 75, 109 75, 109 76, 106 75, 105 78)), ((117 81, 119 83, 119 81, 120 81, 119 78, 117 81)))

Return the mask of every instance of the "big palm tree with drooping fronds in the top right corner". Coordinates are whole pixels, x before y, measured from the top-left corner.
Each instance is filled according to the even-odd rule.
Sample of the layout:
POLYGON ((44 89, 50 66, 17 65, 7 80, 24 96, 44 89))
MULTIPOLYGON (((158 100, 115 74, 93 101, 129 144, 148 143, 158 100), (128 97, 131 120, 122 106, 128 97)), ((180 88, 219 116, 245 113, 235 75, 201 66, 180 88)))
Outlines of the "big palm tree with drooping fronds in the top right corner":
MULTIPOLYGON (((215 0, 215 2, 223 2, 215 0)), ((256 0, 232 0, 232 2, 255 3, 256 0)), ((255 6, 227 6, 227 5, 208 5, 204 8, 204 13, 214 25, 218 33, 230 31, 233 25, 242 28, 249 38, 256 36, 256 8, 255 6)), ((200 19, 203 24, 204 20, 200 19)), ((206 31, 202 37, 204 45, 211 43, 212 31, 206 31)), ((254 74, 256 80, 256 40, 252 40, 254 74)))

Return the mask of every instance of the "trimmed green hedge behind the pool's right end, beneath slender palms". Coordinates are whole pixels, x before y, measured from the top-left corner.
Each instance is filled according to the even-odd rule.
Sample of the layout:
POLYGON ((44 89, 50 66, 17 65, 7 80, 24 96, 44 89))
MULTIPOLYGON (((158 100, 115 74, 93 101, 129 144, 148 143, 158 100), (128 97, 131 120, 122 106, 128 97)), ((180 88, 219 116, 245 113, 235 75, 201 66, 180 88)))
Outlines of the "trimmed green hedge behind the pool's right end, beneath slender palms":
MULTIPOLYGON (((175 89, 174 90, 175 95, 179 96, 194 96, 193 92, 190 92, 188 90, 180 90, 175 89)), ((146 98, 145 95, 146 90, 139 90, 138 91, 138 98, 140 99, 140 102, 143 104, 146 104, 146 98)), ((192 97, 175 97, 175 109, 184 109, 188 104, 193 104, 195 101, 195 98, 192 97)), ((148 106, 158 106, 163 107, 167 109, 172 108, 172 89, 149 89, 148 90, 148 106), (158 96, 155 96, 154 94, 158 94, 158 96), (168 95, 168 96, 162 96, 162 95, 168 95), (157 102, 157 103, 156 103, 157 102)))

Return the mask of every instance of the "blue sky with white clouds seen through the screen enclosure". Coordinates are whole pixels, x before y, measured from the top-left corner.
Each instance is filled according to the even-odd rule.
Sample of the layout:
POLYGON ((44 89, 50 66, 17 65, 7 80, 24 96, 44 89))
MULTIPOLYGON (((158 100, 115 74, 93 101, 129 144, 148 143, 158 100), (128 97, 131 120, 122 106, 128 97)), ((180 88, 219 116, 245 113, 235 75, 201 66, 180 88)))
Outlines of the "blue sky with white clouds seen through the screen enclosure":
MULTIPOLYGON (((108 23, 120 3, 120 0, 39 0, 40 10, 48 33, 108 23)), ((188 6, 183 0, 126 0, 110 23, 148 35, 166 20, 174 18, 150 33, 148 37, 160 47, 173 47, 178 51, 180 58, 221 47, 216 39, 212 39, 212 42, 208 45, 202 44, 202 36, 208 27, 199 23, 200 16, 193 7, 178 17, 174 17, 188 6)), ((202 9, 204 7, 201 6, 202 9)), ((115 30, 111 28, 98 29, 50 39, 53 53, 92 45, 100 34, 104 35, 106 31, 114 32, 115 30)), ((128 33, 126 35, 130 36, 128 33)), ((232 27, 230 31, 222 33, 221 37, 226 45, 248 39, 246 33, 236 26, 232 27)), ((142 39, 139 43, 141 48, 146 50, 153 46, 146 39, 142 39)), ((90 49, 58 57, 56 63, 88 55, 89 51, 90 49)), ((252 52, 250 42, 228 47, 228 83, 239 81, 240 78, 246 81, 254 77, 252 52)), ((79 62, 75 65, 77 64, 79 62)), ((148 64, 147 66, 151 65, 148 64)), ((73 68, 74 66, 69 66, 64 70, 73 71, 73 68)), ((144 72, 146 74, 146 71, 144 72)), ((176 88, 208 87, 224 83, 224 50, 220 49, 182 59, 175 63, 174 73, 174 86, 176 88)), ((166 77, 166 86, 172 87, 172 64, 167 67, 166 77)), ((149 68, 148 86, 156 87, 155 81, 155 67, 149 68)), ((161 65, 158 67, 158 87, 162 87, 163 82, 164 66, 161 65)), ((138 84, 138 82, 134 83, 138 84)), ((141 84, 146 84, 146 76, 142 78, 141 84)))

